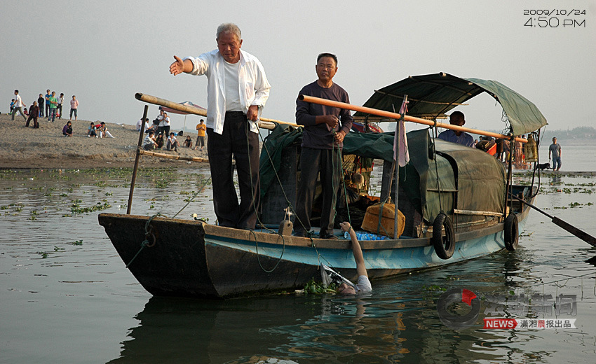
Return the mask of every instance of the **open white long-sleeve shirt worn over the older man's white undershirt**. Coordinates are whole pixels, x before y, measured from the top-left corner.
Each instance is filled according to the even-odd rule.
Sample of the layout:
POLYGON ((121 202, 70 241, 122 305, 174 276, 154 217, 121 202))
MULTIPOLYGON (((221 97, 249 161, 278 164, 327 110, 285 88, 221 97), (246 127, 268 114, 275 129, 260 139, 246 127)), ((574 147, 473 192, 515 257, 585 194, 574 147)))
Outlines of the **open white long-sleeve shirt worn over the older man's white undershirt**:
MULTIPOLYGON (((191 75, 207 76, 207 127, 217 134, 224 131, 226 117, 226 92, 224 57, 219 50, 203 53, 198 57, 186 57, 193 64, 191 75)), ((240 50, 240 67, 238 68, 238 92, 243 112, 248 113, 249 106, 259 106, 259 111, 269 99, 271 85, 265 76, 265 70, 257 57, 240 50)), ((250 121, 250 131, 259 132, 257 123, 250 121)))

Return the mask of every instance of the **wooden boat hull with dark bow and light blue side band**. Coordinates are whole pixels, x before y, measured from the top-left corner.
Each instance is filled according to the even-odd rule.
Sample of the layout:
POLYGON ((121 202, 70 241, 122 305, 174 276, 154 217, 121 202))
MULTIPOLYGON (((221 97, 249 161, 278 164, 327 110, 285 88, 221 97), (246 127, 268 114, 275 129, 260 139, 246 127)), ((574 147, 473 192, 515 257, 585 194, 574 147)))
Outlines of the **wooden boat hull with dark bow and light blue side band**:
MULTIPOLYGON (((527 213, 518 214, 520 231, 527 213)), ((121 214, 100 214, 99 222, 152 295, 224 298, 293 290, 320 276, 320 263, 356 278, 350 243, 343 239, 282 237, 201 221, 121 214)), ((462 262, 505 247, 502 223, 456 233, 455 253, 448 260, 436 255, 427 237, 361 245, 371 279, 462 262)))

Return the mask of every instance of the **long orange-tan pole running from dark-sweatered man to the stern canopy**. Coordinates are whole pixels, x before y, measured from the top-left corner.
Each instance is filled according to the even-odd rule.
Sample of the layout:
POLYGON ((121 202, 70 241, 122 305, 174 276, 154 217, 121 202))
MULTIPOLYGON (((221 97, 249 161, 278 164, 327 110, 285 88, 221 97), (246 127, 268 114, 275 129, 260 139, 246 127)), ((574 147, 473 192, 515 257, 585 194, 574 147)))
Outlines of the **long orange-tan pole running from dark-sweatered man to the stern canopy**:
MULTIPOLYGON (((370 107, 365 107, 365 106, 346 104, 345 102, 337 102, 337 101, 332 101, 332 100, 327 100, 327 99, 320 99, 318 97, 307 96, 306 94, 301 94, 298 96, 298 98, 301 99, 302 101, 311 102, 313 104, 332 106, 332 107, 337 107, 339 109, 347 109, 347 110, 352 110, 352 111, 360 111, 361 113, 370 113, 372 115, 382 116, 384 118, 391 118, 391 119, 395 119, 395 120, 399 120, 400 118, 402 118, 402 116, 398 113, 391 113, 390 111, 372 109, 370 107)), ((406 115, 406 116, 404 116, 404 120, 412 122, 412 123, 418 123, 418 124, 423 124, 423 125, 428 125, 428 126, 437 126, 437 127, 442 127, 445 129, 456 130, 457 132, 468 132, 468 133, 472 133, 472 134, 486 135, 487 137, 493 137, 493 138, 497 138, 497 139, 507 139, 507 140, 510 139, 510 137, 508 137, 507 135, 503 135, 503 134, 499 134, 499 133, 487 132, 485 130, 470 129, 468 127, 460 127, 457 125, 451 125, 451 124, 445 124, 445 123, 439 123, 439 122, 435 123, 434 121, 416 118, 414 116, 406 115)), ((522 143, 528 142, 527 139, 523 139, 520 137, 516 137, 515 141, 521 141, 522 143)))

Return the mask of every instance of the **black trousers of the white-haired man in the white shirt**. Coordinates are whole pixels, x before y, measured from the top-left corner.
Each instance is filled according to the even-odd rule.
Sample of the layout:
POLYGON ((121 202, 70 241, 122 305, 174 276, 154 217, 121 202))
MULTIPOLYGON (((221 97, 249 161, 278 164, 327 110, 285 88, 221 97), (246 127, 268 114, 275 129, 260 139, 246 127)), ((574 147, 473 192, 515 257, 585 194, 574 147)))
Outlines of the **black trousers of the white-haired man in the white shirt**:
POLYGON ((255 228, 259 207, 259 136, 250 131, 240 111, 226 113, 223 133, 207 129, 207 153, 213 184, 213 205, 219 225, 255 228), (236 160, 240 203, 233 184, 232 155, 236 160))

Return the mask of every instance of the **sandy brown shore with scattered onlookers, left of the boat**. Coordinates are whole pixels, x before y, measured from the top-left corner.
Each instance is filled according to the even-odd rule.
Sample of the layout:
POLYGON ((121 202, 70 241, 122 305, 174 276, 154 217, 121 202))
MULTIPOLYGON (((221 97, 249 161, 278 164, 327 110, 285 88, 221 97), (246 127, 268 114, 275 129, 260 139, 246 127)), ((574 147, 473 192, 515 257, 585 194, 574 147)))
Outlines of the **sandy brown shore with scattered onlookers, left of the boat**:
MULTIPOLYGON (((95 124, 104 121, 107 130, 114 135, 111 138, 88 138, 87 128, 90 120, 72 121, 73 137, 62 137, 62 127, 68 120, 57 119, 48 123, 46 118, 38 118, 39 129, 33 129, 33 121, 25 128, 25 120, 15 116, 11 120, 8 114, 0 115, 0 168, 97 168, 97 167, 133 167, 135 151, 139 142, 139 133, 134 125, 108 123, 105 120, 93 120, 95 124)), ((189 134, 194 142, 196 134, 189 134)), ((177 137, 180 144, 186 139, 177 137)), ((193 151, 180 147, 178 153, 161 153, 184 157, 207 158, 207 148, 193 151)), ((192 162, 196 166, 205 163, 192 162)), ((168 160, 141 156, 141 167, 188 166, 182 160, 168 160)))

